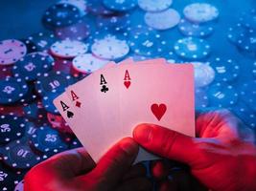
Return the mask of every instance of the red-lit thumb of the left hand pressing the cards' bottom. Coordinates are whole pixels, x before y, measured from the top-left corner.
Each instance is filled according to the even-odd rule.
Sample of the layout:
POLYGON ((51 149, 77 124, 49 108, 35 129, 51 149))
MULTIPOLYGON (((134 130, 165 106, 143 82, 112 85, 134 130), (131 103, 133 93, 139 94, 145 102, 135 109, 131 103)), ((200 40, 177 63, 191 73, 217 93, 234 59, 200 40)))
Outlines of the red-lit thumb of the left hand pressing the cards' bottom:
POLYGON ((88 175, 104 180, 105 185, 114 187, 128 171, 137 157, 139 146, 132 138, 123 138, 99 160, 96 168, 88 175))

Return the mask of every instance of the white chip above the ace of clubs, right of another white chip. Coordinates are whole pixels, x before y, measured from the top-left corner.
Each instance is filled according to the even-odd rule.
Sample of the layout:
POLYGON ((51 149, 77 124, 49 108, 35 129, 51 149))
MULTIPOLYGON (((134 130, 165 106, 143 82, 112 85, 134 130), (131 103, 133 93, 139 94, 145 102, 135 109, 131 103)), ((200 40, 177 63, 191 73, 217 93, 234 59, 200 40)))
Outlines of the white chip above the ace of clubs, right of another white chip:
POLYGON ((115 60, 126 56, 129 52, 128 43, 115 36, 107 35, 91 46, 91 52, 103 59, 115 60))

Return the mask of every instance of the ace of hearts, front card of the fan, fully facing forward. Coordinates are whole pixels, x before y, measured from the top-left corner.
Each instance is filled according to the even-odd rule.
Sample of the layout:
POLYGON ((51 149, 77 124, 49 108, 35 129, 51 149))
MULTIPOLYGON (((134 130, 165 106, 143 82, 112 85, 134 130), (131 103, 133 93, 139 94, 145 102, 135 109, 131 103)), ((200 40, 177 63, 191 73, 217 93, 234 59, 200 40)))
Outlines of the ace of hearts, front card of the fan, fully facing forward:
POLYGON ((125 135, 139 123, 153 123, 195 137, 192 65, 123 65, 119 73, 125 135))

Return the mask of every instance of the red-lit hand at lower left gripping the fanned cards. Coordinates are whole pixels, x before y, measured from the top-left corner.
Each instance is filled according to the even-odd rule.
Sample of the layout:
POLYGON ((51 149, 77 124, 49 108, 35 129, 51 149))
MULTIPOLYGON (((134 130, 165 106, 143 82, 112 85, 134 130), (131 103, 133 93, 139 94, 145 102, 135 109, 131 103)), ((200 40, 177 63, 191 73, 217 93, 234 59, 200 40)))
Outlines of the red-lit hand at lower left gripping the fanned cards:
POLYGON ((131 167, 138 153, 132 138, 115 144, 96 165, 81 148, 36 165, 25 177, 25 191, 147 191, 151 182, 142 165, 131 167))

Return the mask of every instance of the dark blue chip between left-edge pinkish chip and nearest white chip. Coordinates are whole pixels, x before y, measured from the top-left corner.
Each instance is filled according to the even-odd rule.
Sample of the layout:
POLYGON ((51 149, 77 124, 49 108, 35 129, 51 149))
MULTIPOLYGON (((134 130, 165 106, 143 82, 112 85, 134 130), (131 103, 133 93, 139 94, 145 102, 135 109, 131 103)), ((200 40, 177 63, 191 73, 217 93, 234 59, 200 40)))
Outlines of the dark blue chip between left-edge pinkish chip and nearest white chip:
POLYGON ((34 45, 32 47, 33 52, 47 52, 56 40, 52 32, 38 32, 29 36, 25 40, 25 44, 26 46, 34 45))

